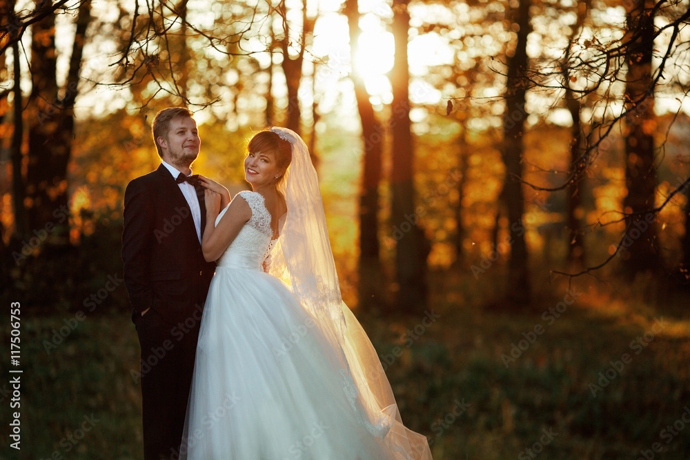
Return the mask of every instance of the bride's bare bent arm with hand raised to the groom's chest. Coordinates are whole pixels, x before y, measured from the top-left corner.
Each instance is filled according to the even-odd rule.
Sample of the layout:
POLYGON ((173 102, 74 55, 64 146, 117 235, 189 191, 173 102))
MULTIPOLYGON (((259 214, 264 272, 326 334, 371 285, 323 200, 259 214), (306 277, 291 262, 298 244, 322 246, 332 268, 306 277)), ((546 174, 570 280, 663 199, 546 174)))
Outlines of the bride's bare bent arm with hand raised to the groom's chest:
POLYGON ((239 230, 251 219, 252 210, 246 200, 242 197, 235 197, 230 202, 230 207, 225 215, 221 217, 217 226, 214 226, 215 219, 218 217, 221 197, 216 192, 204 190, 204 201, 206 203, 206 228, 201 237, 201 252, 207 262, 215 261, 233 242, 239 230))

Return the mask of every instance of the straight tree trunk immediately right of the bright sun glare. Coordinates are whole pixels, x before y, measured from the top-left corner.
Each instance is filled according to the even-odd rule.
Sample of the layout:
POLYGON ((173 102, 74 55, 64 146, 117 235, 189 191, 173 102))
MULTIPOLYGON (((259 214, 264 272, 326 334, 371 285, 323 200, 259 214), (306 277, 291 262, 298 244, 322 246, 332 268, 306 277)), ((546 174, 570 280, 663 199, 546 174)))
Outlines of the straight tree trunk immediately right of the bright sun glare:
POLYGON ((407 58, 410 14, 409 0, 393 1, 393 37, 395 59, 391 83, 393 107, 393 166, 391 189, 393 192, 391 219, 395 245, 395 275, 397 306, 407 312, 419 312, 426 305, 426 257, 430 246, 415 212, 413 183, 412 132, 409 101, 409 70, 407 58))

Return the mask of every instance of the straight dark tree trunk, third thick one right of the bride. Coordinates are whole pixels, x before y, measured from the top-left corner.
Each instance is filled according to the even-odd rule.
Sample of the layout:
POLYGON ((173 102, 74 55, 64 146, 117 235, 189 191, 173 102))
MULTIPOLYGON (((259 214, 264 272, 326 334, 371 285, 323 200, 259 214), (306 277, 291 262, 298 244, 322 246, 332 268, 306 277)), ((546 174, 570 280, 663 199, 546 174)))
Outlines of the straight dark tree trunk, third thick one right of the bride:
POLYGON ((503 114, 503 161, 506 167, 503 196, 508 213, 511 256, 509 260, 508 297, 509 301, 524 306, 529 303, 530 283, 527 263, 527 246, 524 239, 524 197, 522 193, 522 134, 527 117, 524 101, 527 81, 524 72, 527 68, 527 36, 531 32, 529 21, 529 0, 520 0, 517 18, 514 23, 519 30, 515 51, 507 60, 508 79, 506 81, 506 108, 503 114))

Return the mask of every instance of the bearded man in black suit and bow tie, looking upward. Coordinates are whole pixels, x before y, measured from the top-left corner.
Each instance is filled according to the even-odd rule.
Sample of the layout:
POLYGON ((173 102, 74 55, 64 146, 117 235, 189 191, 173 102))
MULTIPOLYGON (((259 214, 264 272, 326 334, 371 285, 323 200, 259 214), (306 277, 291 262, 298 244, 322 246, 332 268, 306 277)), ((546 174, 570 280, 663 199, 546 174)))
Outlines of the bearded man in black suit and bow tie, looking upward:
POLYGON ((190 166, 201 141, 186 108, 153 121, 161 166, 125 191, 122 260, 141 345, 144 458, 177 458, 201 310, 215 270, 201 254, 204 188, 190 166))

